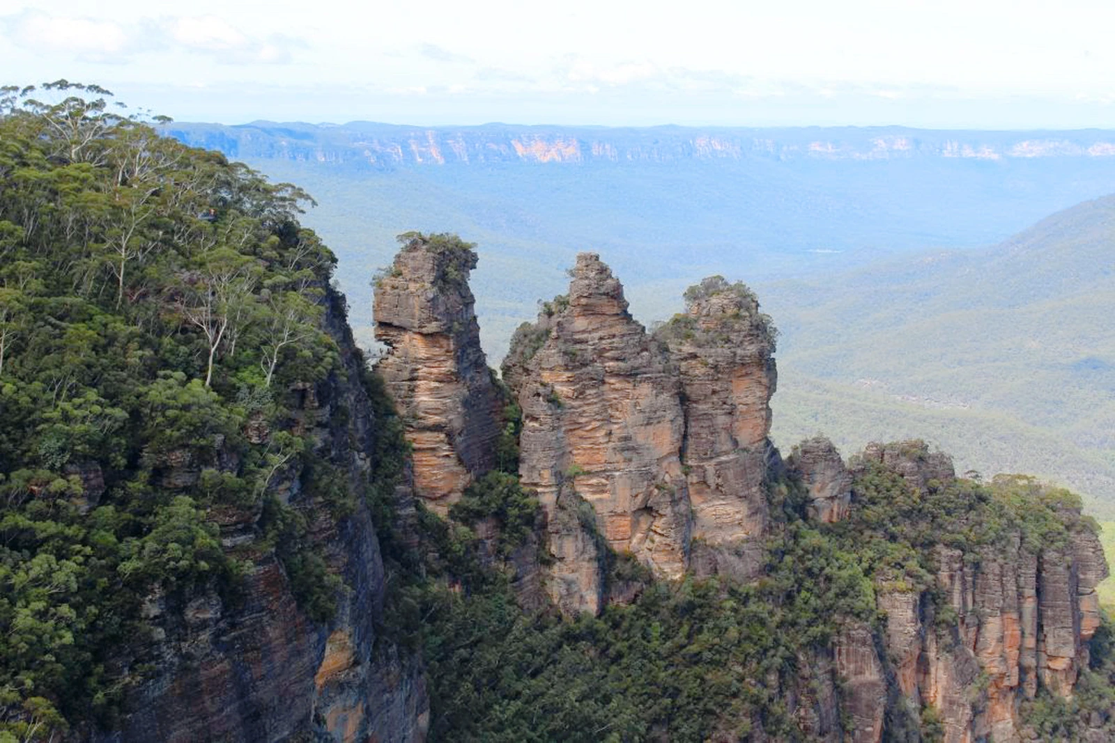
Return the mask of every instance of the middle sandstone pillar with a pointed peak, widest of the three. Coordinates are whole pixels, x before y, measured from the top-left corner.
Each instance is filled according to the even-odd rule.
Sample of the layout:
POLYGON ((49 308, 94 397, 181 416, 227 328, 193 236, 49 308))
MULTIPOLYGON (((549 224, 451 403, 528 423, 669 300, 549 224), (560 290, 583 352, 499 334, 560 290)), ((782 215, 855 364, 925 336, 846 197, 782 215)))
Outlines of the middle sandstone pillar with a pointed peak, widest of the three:
POLYGON ((602 556, 588 535, 570 531, 578 519, 554 518, 559 493, 575 492, 591 506, 612 549, 680 577, 690 539, 683 417, 677 375, 628 313, 608 266, 581 253, 572 275, 569 296, 516 334, 505 379, 523 410, 522 482, 551 516, 552 594, 563 605, 597 610, 593 560, 602 556))

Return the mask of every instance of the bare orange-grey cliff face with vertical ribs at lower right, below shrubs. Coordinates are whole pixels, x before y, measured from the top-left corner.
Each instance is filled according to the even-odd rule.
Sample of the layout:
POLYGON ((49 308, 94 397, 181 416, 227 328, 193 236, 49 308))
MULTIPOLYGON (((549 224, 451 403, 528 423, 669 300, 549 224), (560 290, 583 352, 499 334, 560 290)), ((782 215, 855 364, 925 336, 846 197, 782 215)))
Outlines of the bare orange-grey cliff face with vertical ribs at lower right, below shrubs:
MULTIPOLYGON (((869 460, 922 491, 930 482, 954 478, 948 457, 918 441, 871 444, 853 467, 869 460)), ((941 603, 934 603, 929 590, 879 594, 879 608, 886 615, 885 663, 876 667, 849 651, 842 654, 845 646, 865 647, 863 642, 837 642, 837 667, 853 682, 856 740, 881 740, 867 735, 870 715, 857 711, 876 710, 871 682, 883 681, 884 672, 893 673, 910 708, 937 710, 949 743, 988 736, 1018 741, 1024 698, 1032 698, 1039 686, 1061 697, 1072 695, 1088 663, 1087 642, 1098 626, 1095 587, 1107 566, 1079 512, 1063 516, 1069 524, 1067 546, 1027 545, 1017 531, 1005 547, 963 550, 939 545, 934 587, 941 603), (845 656, 859 659, 842 663, 845 656)))

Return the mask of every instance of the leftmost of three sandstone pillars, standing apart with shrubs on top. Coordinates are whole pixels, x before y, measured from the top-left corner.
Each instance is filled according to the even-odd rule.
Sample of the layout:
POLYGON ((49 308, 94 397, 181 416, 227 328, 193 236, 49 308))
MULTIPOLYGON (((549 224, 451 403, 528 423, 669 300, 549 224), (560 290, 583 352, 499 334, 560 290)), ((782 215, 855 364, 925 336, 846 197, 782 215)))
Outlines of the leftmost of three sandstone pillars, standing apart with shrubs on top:
POLYGON ((415 491, 443 516, 495 463, 500 395, 481 349, 468 273, 472 245, 408 233, 376 280, 378 370, 411 446, 415 491))

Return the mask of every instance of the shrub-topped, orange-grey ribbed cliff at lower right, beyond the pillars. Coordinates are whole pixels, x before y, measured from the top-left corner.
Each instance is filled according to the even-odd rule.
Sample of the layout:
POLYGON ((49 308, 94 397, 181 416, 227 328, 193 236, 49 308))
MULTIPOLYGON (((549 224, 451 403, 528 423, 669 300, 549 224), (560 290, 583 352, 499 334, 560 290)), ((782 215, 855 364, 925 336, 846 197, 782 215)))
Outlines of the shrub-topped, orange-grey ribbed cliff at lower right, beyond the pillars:
MULTIPOLYGON (((1020 705, 1039 690, 1073 695, 1099 623, 1095 587, 1107 566, 1079 501, 1029 479, 1000 478, 990 491, 960 483, 948 457, 920 441, 871 444, 852 469, 850 534, 862 550, 876 548, 872 521, 883 518, 870 510, 883 507, 924 529, 920 537, 906 526, 886 529, 892 544, 919 548, 927 573, 917 577, 909 564, 901 576, 878 570, 885 658, 860 664, 873 668, 865 675, 876 684, 892 676, 908 708, 939 716, 944 741, 1021 740, 1020 705), (900 479, 890 497, 906 505, 878 500, 873 487, 883 475, 900 479)), ((851 692, 853 707, 873 708, 881 725, 878 690, 851 692)), ((861 732, 856 740, 880 737, 861 732)))

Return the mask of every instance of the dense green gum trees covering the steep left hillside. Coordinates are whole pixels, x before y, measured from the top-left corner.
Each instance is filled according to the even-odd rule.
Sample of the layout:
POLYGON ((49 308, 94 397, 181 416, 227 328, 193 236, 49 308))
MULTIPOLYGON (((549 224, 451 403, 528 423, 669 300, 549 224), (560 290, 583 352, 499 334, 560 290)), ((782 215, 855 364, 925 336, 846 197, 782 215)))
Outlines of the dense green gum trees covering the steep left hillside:
MULTIPOLYGON (((211 514, 297 475, 288 390, 338 369, 309 197, 110 100, 0 89, 0 741, 110 724, 146 597, 234 602, 259 551, 211 514)), ((258 550, 282 541, 328 618, 336 581, 283 509, 258 550)))

